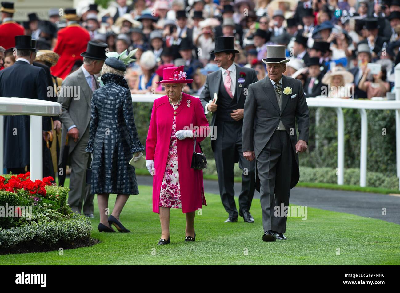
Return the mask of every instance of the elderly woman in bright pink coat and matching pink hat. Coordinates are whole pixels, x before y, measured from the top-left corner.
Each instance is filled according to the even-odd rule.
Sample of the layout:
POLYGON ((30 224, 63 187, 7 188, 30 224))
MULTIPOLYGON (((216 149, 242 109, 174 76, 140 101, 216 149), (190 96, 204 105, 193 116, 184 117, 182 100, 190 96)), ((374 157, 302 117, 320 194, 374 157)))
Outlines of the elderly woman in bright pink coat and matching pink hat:
POLYGON ((146 140, 146 165, 153 175, 153 212, 161 222, 158 245, 169 244, 170 208, 186 214, 185 242, 194 241, 196 210, 206 205, 203 171, 192 169, 194 138, 196 153, 209 134, 207 118, 200 100, 182 92, 187 83, 183 66, 163 69, 166 95, 154 100, 146 140))

